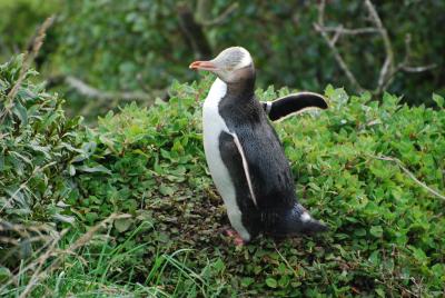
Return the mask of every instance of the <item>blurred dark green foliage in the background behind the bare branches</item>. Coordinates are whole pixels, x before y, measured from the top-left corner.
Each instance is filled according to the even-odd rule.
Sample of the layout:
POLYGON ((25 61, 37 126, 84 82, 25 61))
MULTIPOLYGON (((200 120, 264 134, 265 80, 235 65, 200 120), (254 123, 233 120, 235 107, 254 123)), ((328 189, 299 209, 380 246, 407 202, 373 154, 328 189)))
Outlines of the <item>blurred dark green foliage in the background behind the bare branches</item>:
MULTIPOLYGON (((4 0, 0 1, 8 7, 2 10, 7 17, 0 18, 3 39, 2 43, 7 49, 23 49, 24 37, 32 32, 31 24, 57 12, 58 21, 49 31, 39 57, 46 61, 41 69, 50 81, 59 74, 73 76, 102 91, 151 93, 166 89, 175 79, 187 81, 195 76, 187 66, 199 58, 199 53, 184 33, 178 1, 68 0, 61 4, 53 0, 36 4, 40 2, 6 1, 6 6, 4 0), (13 40, 9 38, 10 32, 14 32, 13 40)), ((395 62, 400 62, 407 53, 413 66, 436 64, 426 72, 397 72, 388 91, 404 95, 404 102, 434 106, 427 95, 434 90, 443 96, 445 91, 445 38, 444 32, 437 30, 444 22, 444 1, 432 0, 427 4, 409 0, 374 2, 388 30, 395 62), (406 34, 412 40, 409 49, 405 43, 406 34)), ((206 21, 218 20, 233 4, 230 1, 196 0, 186 4, 201 23, 215 54, 234 44, 248 48, 264 86, 274 83, 322 91, 327 83, 333 83, 353 90, 326 42, 314 29, 317 1, 239 1, 231 13, 212 26, 206 21), (200 11, 200 7, 206 10, 200 11)), ((363 1, 329 1, 326 26, 370 27, 365 11, 363 1)), ((372 88, 385 59, 382 38, 374 33, 342 36, 336 44, 357 80, 365 88, 372 88)), ((6 51, 7 56, 10 51, 6 51)), ((95 103, 72 87, 61 90, 69 99, 69 107, 85 116, 105 115, 120 100, 95 103)))

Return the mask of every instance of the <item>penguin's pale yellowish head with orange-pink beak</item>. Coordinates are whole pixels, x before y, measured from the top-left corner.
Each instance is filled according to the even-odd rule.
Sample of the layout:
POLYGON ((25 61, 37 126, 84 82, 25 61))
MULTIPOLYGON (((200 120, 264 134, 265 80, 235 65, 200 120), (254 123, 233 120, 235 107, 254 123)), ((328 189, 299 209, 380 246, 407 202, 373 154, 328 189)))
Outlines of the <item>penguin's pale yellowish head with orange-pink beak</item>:
POLYGON ((208 70, 226 83, 236 83, 255 76, 250 53, 241 47, 230 47, 209 61, 195 61, 190 69, 208 70))

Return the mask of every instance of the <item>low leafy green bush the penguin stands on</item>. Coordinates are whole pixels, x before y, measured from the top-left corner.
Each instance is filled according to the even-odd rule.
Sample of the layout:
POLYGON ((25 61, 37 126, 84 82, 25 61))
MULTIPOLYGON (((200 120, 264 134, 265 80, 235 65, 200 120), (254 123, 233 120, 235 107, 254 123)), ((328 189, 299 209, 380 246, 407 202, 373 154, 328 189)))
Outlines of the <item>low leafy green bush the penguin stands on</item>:
MULTIPOLYGON (((148 244, 144 259, 152 265, 159 246, 195 249, 182 261, 208 268, 200 276, 212 284, 195 279, 204 295, 441 295, 444 201, 432 190, 444 189, 443 110, 399 106, 387 93, 380 102, 367 93, 349 98, 328 87, 328 111, 275 126, 304 205, 332 232, 278 245, 261 238, 236 249, 222 236, 225 210, 205 173, 199 99, 210 79, 176 83, 169 103, 130 105, 100 119, 89 132, 92 158, 110 173, 82 175, 71 208, 87 222, 115 210, 149 219, 154 230, 135 239, 148 244)), ((269 88, 258 96, 278 95, 269 88)), ((115 232, 136 222, 115 225, 115 232)), ((169 271, 164 287, 172 290, 179 279, 169 271)))

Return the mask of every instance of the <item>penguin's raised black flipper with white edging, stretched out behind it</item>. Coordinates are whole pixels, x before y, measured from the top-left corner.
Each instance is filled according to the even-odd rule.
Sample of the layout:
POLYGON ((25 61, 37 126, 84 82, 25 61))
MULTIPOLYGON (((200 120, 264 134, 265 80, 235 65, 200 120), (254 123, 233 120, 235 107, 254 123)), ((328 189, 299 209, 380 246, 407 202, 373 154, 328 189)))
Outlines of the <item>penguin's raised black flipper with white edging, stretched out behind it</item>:
POLYGON ((284 119, 309 108, 328 108, 325 97, 313 92, 288 95, 274 101, 261 102, 261 105, 271 121, 284 119))

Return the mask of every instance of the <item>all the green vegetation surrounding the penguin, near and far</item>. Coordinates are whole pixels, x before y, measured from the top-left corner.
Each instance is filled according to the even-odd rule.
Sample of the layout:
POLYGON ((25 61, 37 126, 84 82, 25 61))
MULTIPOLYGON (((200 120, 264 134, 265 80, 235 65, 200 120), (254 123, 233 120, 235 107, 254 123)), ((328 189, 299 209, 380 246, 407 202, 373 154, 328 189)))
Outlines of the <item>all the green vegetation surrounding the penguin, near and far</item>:
POLYGON ((0 295, 442 297, 443 23, 443 0, 0 0, 0 295), (325 236, 221 232, 188 64, 234 44, 260 100, 330 101, 275 125, 325 236))

